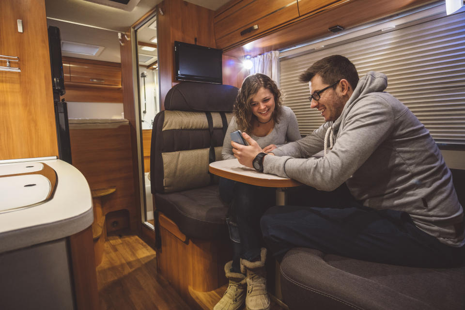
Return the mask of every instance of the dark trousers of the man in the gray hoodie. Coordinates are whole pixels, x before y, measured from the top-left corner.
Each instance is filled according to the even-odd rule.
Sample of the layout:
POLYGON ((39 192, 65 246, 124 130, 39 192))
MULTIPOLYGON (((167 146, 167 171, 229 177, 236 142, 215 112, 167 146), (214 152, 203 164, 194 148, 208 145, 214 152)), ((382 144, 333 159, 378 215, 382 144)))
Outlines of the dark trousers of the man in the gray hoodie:
POLYGON ((303 247, 416 267, 451 267, 464 262, 465 247, 439 242, 419 230, 405 212, 367 208, 350 196, 345 198, 347 207, 331 208, 321 197, 332 199, 330 193, 309 191, 304 206, 274 206, 261 219, 263 239, 279 261, 289 249, 303 247), (315 207, 314 201, 325 207, 315 207))

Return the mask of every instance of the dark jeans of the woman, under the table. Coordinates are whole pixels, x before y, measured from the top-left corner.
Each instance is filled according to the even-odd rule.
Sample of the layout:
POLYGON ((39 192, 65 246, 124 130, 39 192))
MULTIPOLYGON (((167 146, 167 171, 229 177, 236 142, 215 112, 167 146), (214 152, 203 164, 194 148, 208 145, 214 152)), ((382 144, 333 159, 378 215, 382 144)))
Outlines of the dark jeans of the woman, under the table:
POLYGON ((221 200, 229 204, 227 223, 233 241, 233 272, 240 272, 239 259, 260 258, 263 245, 260 218, 267 208, 276 204, 273 187, 261 187, 220 178, 221 200))

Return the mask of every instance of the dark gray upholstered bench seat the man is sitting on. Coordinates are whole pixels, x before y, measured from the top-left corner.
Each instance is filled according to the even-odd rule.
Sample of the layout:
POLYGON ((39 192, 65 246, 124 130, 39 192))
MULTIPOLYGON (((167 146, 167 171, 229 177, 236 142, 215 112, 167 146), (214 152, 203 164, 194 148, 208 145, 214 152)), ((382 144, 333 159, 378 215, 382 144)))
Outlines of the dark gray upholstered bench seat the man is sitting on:
MULTIPOLYGON (((464 205, 465 173, 451 170, 464 205)), ((291 310, 464 310, 465 266, 413 268, 290 250, 281 263, 281 290, 291 310)))

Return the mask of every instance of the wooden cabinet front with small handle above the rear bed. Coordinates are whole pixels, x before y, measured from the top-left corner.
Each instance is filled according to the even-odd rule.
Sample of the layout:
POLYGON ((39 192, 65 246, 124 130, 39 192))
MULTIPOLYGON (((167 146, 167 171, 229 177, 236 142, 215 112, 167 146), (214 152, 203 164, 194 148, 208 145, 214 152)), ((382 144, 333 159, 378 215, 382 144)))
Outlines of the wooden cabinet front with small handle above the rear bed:
POLYGON ((121 85, 121 68, 84 62, 69 62, 71 82, 121 85))

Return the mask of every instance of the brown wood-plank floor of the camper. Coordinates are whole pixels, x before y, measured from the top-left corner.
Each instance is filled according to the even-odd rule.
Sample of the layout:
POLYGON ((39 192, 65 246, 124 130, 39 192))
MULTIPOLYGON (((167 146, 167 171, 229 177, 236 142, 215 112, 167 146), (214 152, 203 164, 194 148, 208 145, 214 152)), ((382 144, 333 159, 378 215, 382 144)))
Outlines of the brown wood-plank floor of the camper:
MULTIPOLYGON (((138 236, 109 235, 103 261, 97 267, 101 310, 191 310, 156 272, 156 253, 138 236)), ((212 292, 190 292, 199 308, 211 310, 227 285, 212 292)), ((286 307, 272 301, 271 310, 286 307)))

